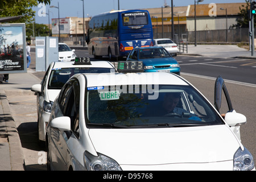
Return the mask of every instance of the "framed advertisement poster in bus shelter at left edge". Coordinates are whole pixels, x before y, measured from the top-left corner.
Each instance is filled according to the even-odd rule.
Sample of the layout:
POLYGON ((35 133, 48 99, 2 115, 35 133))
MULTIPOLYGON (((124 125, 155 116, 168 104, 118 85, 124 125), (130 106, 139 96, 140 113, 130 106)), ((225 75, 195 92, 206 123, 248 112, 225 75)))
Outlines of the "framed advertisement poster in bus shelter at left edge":
POLYGON ((24 72, 27 72, 25 24, 0 24, 0 74, 24 72))

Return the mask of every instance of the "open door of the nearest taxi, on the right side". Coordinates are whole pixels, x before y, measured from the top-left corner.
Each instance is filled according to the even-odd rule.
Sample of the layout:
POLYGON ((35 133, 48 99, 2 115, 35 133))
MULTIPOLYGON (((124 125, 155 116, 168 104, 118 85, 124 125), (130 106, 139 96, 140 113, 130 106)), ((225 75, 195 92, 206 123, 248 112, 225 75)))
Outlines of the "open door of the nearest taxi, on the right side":
MULTIPOLYGON (((229 97, 228 89, 226 88, 225 81, 221 76, 218 76, 215 81, 214 87, 214 106, 218 113, 225 114, 228 112, 232 112, 233 106, 229 97), (226 102, 222 102, 226 100, 226 102)), ((237 135, 238 139, 241 140, 240 136, 240 126, 230 127, 234 134, 237 135)))

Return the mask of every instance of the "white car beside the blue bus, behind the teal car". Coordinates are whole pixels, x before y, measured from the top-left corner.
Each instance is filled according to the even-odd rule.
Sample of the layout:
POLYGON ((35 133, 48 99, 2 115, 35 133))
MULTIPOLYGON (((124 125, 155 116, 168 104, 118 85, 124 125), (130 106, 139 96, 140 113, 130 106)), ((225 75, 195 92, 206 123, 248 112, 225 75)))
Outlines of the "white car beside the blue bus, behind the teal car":
POLYGON ((154 46, 164 47, 172 56, 177 56, 177 52, 179 51, 177 44, 171 39, 154 39, 154 46))

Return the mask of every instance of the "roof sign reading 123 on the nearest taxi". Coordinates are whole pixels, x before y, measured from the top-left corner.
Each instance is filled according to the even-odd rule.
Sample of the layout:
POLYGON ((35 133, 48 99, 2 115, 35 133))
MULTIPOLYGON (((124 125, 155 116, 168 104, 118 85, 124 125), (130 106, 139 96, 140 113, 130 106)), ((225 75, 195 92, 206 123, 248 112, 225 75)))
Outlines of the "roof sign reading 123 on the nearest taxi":
POLYGON ((118 72, 144 72, 142 61, 118 61, 118 72))

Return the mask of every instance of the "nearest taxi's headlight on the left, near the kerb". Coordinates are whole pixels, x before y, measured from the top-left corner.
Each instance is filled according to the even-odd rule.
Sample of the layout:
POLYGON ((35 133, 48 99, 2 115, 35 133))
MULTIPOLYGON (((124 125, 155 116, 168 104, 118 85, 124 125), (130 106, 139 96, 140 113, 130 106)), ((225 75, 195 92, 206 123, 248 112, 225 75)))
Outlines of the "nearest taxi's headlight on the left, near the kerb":
POLYGON ((84 152, 84 164, 88 171, 122 171, 115 160, 102 154, 94 156, 88 151, 84 152))

